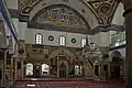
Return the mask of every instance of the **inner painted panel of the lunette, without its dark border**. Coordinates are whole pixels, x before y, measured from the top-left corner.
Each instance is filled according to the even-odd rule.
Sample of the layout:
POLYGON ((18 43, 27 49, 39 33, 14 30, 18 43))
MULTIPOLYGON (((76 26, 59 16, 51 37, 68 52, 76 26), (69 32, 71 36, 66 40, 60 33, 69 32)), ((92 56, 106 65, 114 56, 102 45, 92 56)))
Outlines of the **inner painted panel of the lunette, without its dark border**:
POLYGON ((55 8, 47 10, 37 18, 36 23, 47 23, 56 26, 87 29, 84 21, 73 11, 66 8, 55 8))

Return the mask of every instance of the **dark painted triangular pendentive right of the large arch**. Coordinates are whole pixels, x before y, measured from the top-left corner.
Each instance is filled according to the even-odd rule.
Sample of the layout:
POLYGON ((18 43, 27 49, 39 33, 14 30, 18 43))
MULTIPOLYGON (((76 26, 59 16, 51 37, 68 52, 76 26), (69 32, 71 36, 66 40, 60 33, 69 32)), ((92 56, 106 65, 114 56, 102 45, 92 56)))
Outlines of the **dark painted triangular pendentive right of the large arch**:
POLYGON ((111 24, 114 12, 118 8, 116 0, 80 0, 84 4, 92 10, 98 18, 100 26, 108 26, 111 24))

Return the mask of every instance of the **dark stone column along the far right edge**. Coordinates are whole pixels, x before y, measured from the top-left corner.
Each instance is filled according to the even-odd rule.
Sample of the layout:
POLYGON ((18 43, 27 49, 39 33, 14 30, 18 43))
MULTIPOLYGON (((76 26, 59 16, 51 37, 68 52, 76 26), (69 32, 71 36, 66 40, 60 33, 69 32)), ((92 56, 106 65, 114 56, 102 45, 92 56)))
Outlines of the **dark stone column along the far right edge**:
POLYGON ((127 31, 127 88, 132 88, 132 11, 124 15, 127 31))

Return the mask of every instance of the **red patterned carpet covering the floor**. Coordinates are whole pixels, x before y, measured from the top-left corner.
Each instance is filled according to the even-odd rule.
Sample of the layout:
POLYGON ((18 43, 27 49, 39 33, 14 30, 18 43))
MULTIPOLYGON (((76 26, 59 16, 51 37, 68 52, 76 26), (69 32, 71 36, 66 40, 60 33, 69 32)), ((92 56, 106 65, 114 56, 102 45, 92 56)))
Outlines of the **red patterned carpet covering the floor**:
POLYGON ((119 80, 97 82, 87 79, 34 79, 18 80, 13 88, 125 88, 119 80), (29 85, 29 86, 28 86, 29 85))

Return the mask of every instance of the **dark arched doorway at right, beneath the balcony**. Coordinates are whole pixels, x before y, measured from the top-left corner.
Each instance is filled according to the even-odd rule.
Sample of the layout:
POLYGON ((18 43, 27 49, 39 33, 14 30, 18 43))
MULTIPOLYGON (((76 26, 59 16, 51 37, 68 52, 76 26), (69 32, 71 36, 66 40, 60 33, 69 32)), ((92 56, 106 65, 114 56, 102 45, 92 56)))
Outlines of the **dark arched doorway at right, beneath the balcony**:
POLYGON ((121 54, 118 51, 114 51, 111 54, 111 63, 110 63, 110 74, 111 78, 121 78, 122 68, 123 68, 123 61, 121 58, 121 54))

